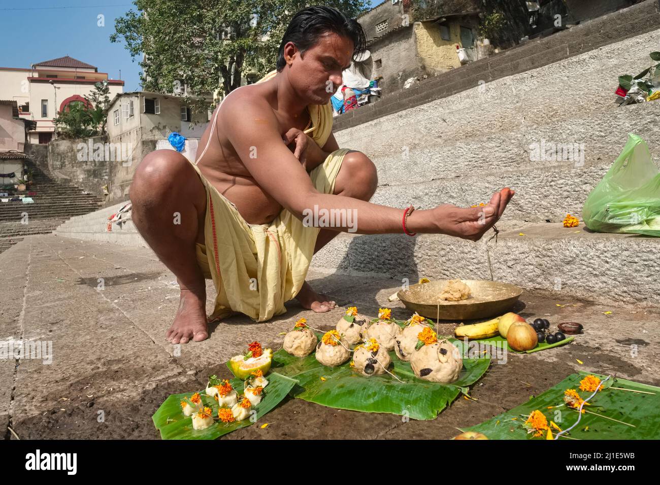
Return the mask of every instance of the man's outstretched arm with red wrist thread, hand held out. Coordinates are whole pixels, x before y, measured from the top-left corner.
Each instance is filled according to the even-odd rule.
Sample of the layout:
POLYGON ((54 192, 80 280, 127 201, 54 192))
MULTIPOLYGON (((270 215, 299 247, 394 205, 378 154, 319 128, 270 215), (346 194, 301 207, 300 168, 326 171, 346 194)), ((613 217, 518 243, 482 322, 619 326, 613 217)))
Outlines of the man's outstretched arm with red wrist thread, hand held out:
MULTIPOLYGON (((224 101, 226 110, 218 117, 222 129, 242 162, 257 183, 282 207, 298 218, 306 210, 354 210, 358 234, 388 234, 403 232, 402 209, 376 205, 352 197, 319 193, 312 185, 305 168, 284 145, 277 130, 277 119, 261 100, 249 99, 236 92, 224 101)), ((463 209, 441 205, 434 209, 415 210, 407 220, 410 232, 449 234, 479 240, 504 212, 513 191, 502 189, 488 205, 463 209)), ((348 227, 330 228, 347 231, 348 227)))

